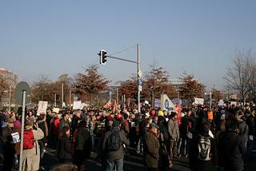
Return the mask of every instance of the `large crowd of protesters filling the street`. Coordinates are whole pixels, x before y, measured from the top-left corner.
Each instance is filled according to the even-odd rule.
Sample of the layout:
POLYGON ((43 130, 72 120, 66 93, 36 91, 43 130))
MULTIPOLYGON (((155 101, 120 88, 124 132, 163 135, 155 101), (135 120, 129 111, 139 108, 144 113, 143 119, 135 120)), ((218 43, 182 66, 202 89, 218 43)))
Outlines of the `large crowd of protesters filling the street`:
MULTIPOLYGON (((186 157, 192 171, 243 170, 254 145, 254 105, 184 107, 180 113, 149 106, 137 109, 62 109, 37 113, 26 109, 22 161, 19 161, 21 114, 0 113, 2 170, 44 170, 46 149, 53 149, 60 164, 86 170, 86 159, 106 171, 122 171, 124 157, 134 149, 147 170, 170 170, 174 160, 186 157), (19 136, 20 137, 20 136, 19 136)), ((1 166, 0 166, 1 167, 1 166)))

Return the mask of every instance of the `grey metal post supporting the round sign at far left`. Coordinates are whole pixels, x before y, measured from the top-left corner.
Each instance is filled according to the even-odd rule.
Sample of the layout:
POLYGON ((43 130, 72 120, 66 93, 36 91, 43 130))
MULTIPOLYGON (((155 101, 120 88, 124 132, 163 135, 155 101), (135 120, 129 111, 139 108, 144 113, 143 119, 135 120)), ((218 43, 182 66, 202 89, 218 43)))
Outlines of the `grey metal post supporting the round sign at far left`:
POLYGON ((26 90, 23 90, 23 100, 22 100, 22 131, 21 131, 21 148, 19 155, 19 171, 22 171, 22 156, 23 156, 23 133, 24 133, 24 122, 25 122, 25 104, 26 104, 26 90))

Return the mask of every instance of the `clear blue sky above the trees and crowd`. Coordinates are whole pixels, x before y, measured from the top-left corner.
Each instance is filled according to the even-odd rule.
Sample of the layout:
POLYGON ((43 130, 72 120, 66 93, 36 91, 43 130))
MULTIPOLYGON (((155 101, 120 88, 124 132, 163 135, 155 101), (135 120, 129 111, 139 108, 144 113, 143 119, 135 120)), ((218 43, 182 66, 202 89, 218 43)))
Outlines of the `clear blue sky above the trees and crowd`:
MULTIPOLYGON (((141 45, 142 72, 154 62, 170 78, 183 70, 222 89, 235 50, 256 49, 256 1, 251 0, 1 0, 0 67, 34 82, 55 80, 97 64, 98 51, 112 54, 141 45)), ((136 60, 136 48, 116 54, 136 60)), ((108 59, 100 72, 114 82, 136 65, 108 59)))

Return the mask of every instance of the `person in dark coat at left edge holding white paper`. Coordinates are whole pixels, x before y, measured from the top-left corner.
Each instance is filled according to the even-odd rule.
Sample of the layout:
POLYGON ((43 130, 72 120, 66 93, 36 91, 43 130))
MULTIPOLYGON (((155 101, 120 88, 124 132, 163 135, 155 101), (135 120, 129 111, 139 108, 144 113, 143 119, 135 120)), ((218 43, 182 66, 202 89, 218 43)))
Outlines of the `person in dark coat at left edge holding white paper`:
POLYGON ((15 154, 15 144, 13 142, 13 137, 11 133, 15 133, 14 130, 14 118, 7 118, 7 126, 2 129, 2 142, 4 149, 4 161, 2 170, 12 170, 14 165, 14 154, 15 154))

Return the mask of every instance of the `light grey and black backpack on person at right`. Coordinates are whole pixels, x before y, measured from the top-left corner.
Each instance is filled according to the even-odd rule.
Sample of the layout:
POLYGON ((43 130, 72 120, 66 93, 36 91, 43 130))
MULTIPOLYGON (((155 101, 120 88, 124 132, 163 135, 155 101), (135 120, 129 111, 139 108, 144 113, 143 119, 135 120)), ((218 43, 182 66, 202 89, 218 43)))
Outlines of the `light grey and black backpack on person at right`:
POLYGON ((199 135, 198 140, 198 159, 201 161, 210 161, 210 137, 199 135))

